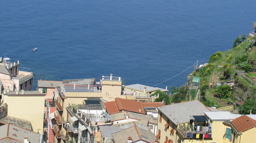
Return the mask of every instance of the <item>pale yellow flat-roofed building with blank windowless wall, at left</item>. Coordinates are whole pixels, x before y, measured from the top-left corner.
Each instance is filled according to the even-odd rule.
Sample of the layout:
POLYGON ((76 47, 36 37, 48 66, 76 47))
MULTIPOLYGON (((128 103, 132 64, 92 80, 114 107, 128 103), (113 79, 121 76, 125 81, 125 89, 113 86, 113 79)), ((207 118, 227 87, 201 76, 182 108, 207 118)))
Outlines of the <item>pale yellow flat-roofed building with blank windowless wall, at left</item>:
POLYGON ((31 122, 34 132, 43 133, 44 96, 39 91, 3 91, 1 103, 7 104, 7 114, 31 122))

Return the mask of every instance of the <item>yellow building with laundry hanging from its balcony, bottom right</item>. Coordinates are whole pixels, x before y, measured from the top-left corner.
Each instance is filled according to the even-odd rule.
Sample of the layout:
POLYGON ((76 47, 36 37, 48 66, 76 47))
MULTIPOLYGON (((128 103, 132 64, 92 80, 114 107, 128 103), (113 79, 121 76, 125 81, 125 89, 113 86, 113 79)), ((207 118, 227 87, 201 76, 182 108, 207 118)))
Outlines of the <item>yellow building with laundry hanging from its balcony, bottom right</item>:
MULTIPOLYGON (((158 109, 159 143, 253 143, 250 140, 254 137, 252 134, 256 133, 253 126, 256 122, 251 119, 250 122, 253 123, 250 128, 236 131, 235 128, 243 124, 241 122, 248 120, 239 120, 240 114, 206 107, 199 101, 172 104, 158 109), (239 125, 235 127, 234 123, 239 125), (240 133, 241 131, 244 132, 240 133)), ((255 115, 248 116, 256 118, 255 115)))

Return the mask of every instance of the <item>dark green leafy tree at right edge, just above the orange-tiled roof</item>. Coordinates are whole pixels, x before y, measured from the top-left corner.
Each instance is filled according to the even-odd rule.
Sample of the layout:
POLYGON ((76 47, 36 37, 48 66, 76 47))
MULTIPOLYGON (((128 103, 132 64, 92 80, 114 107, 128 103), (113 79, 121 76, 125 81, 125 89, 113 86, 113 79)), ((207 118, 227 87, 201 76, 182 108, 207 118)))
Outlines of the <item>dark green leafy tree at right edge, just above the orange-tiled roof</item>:
POLYGON ((255 99, 247 99, 244 101, 243 105, 239 107, 239 114, 250 114, 252 110, 252 114, 256 114, 256 100, 255 99))

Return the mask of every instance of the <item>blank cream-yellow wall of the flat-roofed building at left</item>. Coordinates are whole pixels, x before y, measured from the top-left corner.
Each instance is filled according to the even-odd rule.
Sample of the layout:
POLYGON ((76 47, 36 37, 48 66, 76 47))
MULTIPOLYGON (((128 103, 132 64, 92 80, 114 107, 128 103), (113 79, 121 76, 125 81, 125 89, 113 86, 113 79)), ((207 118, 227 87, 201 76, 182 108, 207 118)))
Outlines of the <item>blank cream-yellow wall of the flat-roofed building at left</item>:
POLYGON ((44 96, 5 96, 8 116, 29 120, 34 132, 43 133, 44 96))

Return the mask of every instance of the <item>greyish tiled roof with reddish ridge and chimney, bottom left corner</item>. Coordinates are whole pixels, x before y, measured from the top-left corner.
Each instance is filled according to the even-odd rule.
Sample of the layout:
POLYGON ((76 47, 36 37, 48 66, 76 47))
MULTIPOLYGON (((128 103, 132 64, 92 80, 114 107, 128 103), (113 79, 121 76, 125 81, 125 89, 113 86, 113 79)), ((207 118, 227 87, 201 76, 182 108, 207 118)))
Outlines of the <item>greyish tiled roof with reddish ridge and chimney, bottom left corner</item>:
POLYGON ((44 143, 43 137, 39 133, 27 130, 10 123, 0 123, 1 143, 44 143))

